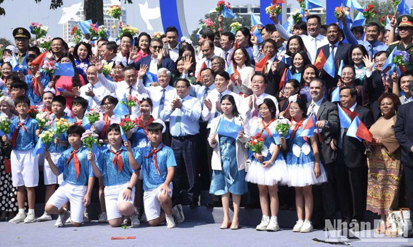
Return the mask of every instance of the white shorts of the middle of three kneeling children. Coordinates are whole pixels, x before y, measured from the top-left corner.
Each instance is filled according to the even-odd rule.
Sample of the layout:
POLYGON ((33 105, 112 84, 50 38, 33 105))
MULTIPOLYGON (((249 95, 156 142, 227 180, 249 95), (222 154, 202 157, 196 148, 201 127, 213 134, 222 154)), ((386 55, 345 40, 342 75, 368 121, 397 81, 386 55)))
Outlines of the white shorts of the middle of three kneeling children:
POLYGON ((118 210, 118 205, 122 202, 128 202, 133 205, 135 200, 135 186, 132 188, 132 199, 123 199, 123 191, 129 186, 129 183, 118 184, 104 187, 104 203, 106 205, 107 219, 116 219, 122 217, 121 212, 118 210))

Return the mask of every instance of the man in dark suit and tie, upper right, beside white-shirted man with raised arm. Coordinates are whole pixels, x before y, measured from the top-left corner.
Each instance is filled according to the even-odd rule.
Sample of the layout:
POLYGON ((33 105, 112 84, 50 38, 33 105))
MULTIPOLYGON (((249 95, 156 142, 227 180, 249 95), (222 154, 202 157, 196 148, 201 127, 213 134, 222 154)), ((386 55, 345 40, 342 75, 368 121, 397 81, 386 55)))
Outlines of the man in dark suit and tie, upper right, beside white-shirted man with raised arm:
MULTIPOLYGON (((338 71, 341 61, 344 61, 344 65, 349 64, 349 57, 351 57, 351 44, 341 42, 340 37, 339 26, 336 23, 331 23, 327 27, 327 39, 329 44, 326 44, 317 50, 317 56, 322 50, 326 59, 330 56, 330 53, 333 50, 335 71, 338 71)), ((325 81, 328 82, 326 85, 327 89, 337 86, 339 78, 337 73, 335 78, 332 78, 326 72, 323 72, 322 76, 325 81)))

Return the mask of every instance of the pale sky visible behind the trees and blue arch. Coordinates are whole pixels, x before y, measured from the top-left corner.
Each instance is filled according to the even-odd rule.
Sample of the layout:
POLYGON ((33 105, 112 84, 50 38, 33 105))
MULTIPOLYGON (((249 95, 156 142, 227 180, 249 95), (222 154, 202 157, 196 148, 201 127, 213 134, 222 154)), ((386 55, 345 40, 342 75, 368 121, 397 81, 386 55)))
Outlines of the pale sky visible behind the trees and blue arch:
MULTIPOLYGON (((173 1, 173 0, 172 0, 173 1)), ((288 0, 290 2, 291 0, 288 0)), ((63 0, 63 7, 70 7, 83 0, 63 0)), ((151 20, 150 23, 154 30, 148 31, 146 24, 143 22, 138 3, 145 3, 145 0, 133 0, 133 4, 123 4, 122 7, 126 9, 127 23, 133 27, 139 29, 140 32, 145 31, 150 34, 155 31, 163 31, 161 19, 151 20)), ((198 20, 204 17, 204 14, 209 12, 209 9, 214 8, 218 0, 183 0, 185 19, 188 26, 189 33, 192 30, 198 28, 198 20)), ((230 1, 231 4, 259 4, 259 0, 234 0, 230 1)), ((294 5, 296 1, 292 0, 294 5)), ((325 3, 325 0, 321 0, 325 3)), ((337 2, 341 2, 338 1, 337 2)), ((406 0, 409 6, 413 5, 413 0, 406 0)), ((110 0, 104 0, 104 4, 110 4, 110 0)), ((148 0, 149 8, 159 6, 159 0, 148 0)), ((0 31, 0 37, 5 37, 8 40, 13 40, 12 31, 17 27, 24 27, 28 29, 32 21, 42 23, 49 27, 49 33, 52 37, 63 36, 63 25, 57 24, 62 17, 62 8, 49 9, 50 0, 42 0, 39 4, 35 0, 5 0, 1 5, 5 11, 5 16, 0 16, 0 23, 2 23, 2 29, 0 31)))

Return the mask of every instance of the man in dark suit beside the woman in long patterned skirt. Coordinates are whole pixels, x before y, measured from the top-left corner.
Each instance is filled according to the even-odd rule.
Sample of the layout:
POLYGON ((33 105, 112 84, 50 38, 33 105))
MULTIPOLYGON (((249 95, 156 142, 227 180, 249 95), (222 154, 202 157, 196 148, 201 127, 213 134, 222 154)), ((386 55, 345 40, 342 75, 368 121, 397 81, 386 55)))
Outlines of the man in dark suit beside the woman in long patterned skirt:
MULTIPOLYGON (((358 105, 356 98, 356 88, 345 86, 340 89, 341 105, 349 112, 350 118, 353 119, 357 115, 366 127, 370 128, 374 123, 373 112, 366 107, 358 105)), ((366 210, 366 148, 363 142, 346 134, 347 128, 341 128, 338 145, 336 140, 332 141, 332 149, 337 150, 335 166, 337 192, 345 226, 348 226, 352 220, 356 221, 353 224, 360 226, 360 222, 364 221, 364 212, 366 210)), ((354 226, 354 228, 357 227, 354 226)), ((358 227, 358 229, 360 228, 358 227)))

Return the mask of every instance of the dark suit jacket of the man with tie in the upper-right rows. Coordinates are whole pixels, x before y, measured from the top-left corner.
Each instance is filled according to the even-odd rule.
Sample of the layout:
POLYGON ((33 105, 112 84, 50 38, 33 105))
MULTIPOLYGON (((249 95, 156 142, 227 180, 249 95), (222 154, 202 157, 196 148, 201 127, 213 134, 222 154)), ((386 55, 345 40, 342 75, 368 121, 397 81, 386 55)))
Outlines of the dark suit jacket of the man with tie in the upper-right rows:
MULTIPOLYGON (((317 50, 317 56, 320 53, 321 50, 323 50, 323 54, 325 58, 327 59, 330 56, 330 43, 323 45, 322 47, 318 48, 317 50)), ((322 71, 321 75, 323 79, 326 82, 326 87, 327 89, 330 89, 332 86, 337 86, 338 82, 338 75, 337 71, 339 69, 340 63, 343 60, 344 65, 349 64, 349 58, 351 57, 350 50, 351 50, 352 45, 339 42, 336 52, 334 53, 334 65, 335 65, 335 71, 336 71, 336 76, 332 78, 330 75, 328 75, 324 70, 322 71)))

